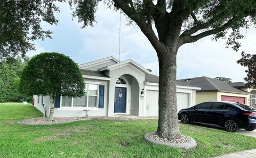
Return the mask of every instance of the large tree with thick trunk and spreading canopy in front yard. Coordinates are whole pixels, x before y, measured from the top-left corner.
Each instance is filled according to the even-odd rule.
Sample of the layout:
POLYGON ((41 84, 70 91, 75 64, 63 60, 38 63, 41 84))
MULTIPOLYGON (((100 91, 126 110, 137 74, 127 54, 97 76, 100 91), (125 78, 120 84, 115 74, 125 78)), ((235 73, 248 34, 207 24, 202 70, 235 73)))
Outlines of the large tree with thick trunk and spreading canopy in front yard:
MULTIPOLYGON (((30 1, 28 4, 22 2, 17 1, 22 5, 32 3, 30 1)), ((33 21, 35 15, 43 17, 43 20, 50 21, 52 24, 57 22, 53 11, 58 10, 58 7, 54 5, 54 2, 33 1, 33 4, 38 3, 35 5, 36 7, 28 7, 29 9, 25 10, 25 13, 28 12, 28 15, 31 15, 28 16, 29 26, 33 26, 35 23, 39 24, 38 19, 33 21)), ((244 37, 239 29, 249 28, 250 25, 256 23, 255 0, 70 0, 70 6, 74 9, 73 15, 78 17, 79 22, 83 22, 83 28, 92 26, 95 22, 95 12, 97 12, 100 2, 105 3, 107 7, 114 7, 116 11, 122 10, 129 17, 129 23, 137 24, 156 50, 159 62, 157 135, 163 138, 179 138, 181 136, 175 83, 179 48, 185 43, 196 42, 201 38, 213 35, 215 40, 227 36, 227 46, 238 50, 240 43, 237 40, 244 37), (154 32, 154 28, 157 32, 154 32)), ((16 4, 10 5, 8 11, 13 11, 15 6, 16 4)), ((18 9, 20 8, 18 7, 18 9)), ((19 12, 21 11, 14 11, 14 15, 20 17, 19 12)), ((2 16, 2 14, 0 15, 2 16)), ((5 19, 5 17, 3 18, 5 19)), ((20 23, 15 20, 12 22, 20 23)), ((28 30, 29 27, 26 28, 28 30)), ((38 32, 35 29, 34 31, 38 32)), ((22 37, 26 37, 26 35, 22 37)), ((45 36, 38 34, 36 37, 45 36)))

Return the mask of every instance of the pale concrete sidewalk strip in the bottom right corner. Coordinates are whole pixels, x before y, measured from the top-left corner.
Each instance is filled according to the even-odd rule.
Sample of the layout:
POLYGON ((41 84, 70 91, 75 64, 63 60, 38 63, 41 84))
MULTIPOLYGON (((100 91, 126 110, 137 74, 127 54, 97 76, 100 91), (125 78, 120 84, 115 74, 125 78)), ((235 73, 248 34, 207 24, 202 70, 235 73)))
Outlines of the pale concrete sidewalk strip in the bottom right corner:
POLYGON ((250 158, 256 157, 256 149, 221 155, 221 156, 215 157, 215 158, 247 158, 247 157, 250 157, 250 158))

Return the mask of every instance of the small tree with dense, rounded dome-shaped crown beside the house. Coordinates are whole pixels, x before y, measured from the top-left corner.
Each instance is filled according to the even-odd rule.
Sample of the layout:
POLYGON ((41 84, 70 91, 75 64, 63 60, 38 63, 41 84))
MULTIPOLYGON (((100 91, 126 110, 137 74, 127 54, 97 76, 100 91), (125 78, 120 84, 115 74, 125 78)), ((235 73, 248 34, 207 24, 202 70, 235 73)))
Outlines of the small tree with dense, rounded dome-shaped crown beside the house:
POLYGON ((20 91, 28 95, 50 95, 50 120, 53 120, 56 96, 81 97, 84 79, 77 64, 57 52, 43 52, 32 57, 23 69, 20 91))

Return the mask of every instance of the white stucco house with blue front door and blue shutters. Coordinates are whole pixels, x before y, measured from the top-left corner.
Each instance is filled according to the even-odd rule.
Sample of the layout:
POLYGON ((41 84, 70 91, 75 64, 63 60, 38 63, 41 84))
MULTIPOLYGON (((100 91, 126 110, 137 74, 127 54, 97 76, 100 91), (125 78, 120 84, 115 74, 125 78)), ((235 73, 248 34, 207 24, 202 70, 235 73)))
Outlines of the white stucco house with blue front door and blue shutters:
MULTIPOLYGON (((114 57, 79 65, 86 84, 82 98, 59 96, 54 117, 85 116, 157 116, 158 76, 134 62, 119 62, 114 57)), ((177 81, 178 110, 194 106, 196 90, 201 88, 177 81)), ((35 107, 49 116, 50 97, 34 95, 35 107)))

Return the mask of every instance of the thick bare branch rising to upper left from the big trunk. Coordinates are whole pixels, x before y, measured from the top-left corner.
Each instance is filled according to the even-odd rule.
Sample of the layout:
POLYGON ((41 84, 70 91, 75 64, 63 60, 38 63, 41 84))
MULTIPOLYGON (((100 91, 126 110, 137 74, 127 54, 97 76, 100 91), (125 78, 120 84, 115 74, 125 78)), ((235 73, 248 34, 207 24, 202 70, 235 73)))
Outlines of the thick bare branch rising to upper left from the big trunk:
POLYGON ((121 8, 121 10, 127 16, 129 16, 135 23, 137 23, 137 25, 140 27, 140 30, 145 34, 145 36, 148 38, 151 45, 155 48, 157 52, 161 52, 163 48, 165 48, 163 43, 161 43, 156 37, 154 30, 147 24, 145 20, 142 19, 142 17, 136 10, 131 8, 123 0, 113 0, 113 1, 118 7, 121 8))

